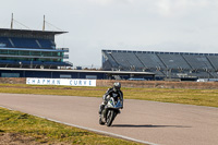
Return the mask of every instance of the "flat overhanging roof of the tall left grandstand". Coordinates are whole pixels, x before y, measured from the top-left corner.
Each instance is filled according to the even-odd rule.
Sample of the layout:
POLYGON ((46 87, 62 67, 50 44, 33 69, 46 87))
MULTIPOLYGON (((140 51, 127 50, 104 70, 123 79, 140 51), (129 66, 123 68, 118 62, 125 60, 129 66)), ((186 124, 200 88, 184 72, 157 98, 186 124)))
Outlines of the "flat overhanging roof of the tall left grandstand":
POLYGON ((19 33, 19 34, 40 34, 40 35, 57 35, 64 34, 68 32, 52 32, 52 31, 34 31, 34 29, 10 29, 10 28, 0 28, 0 33, 19 33))

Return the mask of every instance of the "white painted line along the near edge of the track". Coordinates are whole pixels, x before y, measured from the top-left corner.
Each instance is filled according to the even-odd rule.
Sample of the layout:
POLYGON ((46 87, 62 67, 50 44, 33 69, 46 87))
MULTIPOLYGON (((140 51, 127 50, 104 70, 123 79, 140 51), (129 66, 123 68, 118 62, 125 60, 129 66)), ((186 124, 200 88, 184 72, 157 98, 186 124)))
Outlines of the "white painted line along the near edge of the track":
MULTIPOLYGON (((0 107, 9 109, 9 110, 14 110, 12 108, 4 107, 4 106, 0 106, 0 107)), ((100 130, 95 130, 95 129, 90 129, 90 128, 86 128, 86 126, 81 126, 81 125, 76 125, 76 124, 71 124, 71 123, 58 121, 58 120, 46 118, 46 117, 38 116, 38 114, 33 114, 33 113, 29 113, 29 114, 38 117, 38 118, 41 118, 41 119, 46 119, 46 120, 49 120, 49 121, 52 121, 52 122, 57 122, 57 123, 61 123, 61 124, 65 124, 65 125, 70 125, 70 126, 74 126, 74 128, 78 128, 78 129, 83 129, 83 130, 87 130, 87 131, 90 131, 90 132, 96 132, 96 133, 99 133, 99 134, 114 136, 114 137, 119 137, 119 138, 123 138, 123 140, 128 140, 128 141, 133 141, 133 142, 142 143, 142 144, 158 145, 158 144, 155 144, 155 143, 150 143, 150 142, 146 142, 146 141, 141 141, 141 140, 123 136, 123 135, 120 135, 120 134, 114 134, 114 133, 110 133, 110 132, 105 132, 105 131, 100 131, 100 130)))

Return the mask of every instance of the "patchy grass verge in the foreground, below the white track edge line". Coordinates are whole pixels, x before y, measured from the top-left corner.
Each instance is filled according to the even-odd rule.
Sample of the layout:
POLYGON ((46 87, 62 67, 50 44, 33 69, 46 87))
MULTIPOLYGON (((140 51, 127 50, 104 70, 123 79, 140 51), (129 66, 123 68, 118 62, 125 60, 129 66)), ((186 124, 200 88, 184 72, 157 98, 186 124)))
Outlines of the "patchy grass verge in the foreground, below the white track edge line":
POLYGON ((13 136, 14 134, 20 134, 19 136, 28 136, 31 142, 26 144, 137 144, 63 125, 27 113, 0 108, 0 136, 7 133, 13 133, 13 136))

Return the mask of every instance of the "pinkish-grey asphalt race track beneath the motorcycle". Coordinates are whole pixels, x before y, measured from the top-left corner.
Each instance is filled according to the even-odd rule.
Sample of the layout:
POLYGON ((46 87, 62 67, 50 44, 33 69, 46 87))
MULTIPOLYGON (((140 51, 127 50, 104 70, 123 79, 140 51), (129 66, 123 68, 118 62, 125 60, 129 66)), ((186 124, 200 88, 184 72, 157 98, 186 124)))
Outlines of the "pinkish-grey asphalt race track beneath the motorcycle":
POLYGON ((217 145, 218 108, 124 100, 112 126, 98 124, 101 98, 0 94, 0 106, 88 130, 160 145, 217 145))

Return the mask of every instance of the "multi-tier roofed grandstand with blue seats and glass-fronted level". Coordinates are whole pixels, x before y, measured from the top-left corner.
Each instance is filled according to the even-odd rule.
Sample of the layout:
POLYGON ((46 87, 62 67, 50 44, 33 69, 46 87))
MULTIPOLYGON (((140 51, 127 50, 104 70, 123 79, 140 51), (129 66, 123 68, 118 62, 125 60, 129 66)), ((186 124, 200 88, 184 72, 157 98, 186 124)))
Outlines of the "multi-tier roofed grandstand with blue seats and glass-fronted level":
POLYGON ((56 48, 55 36, 66 32, 0 28, 0 68, 71 67, 68 48, 56 48))

